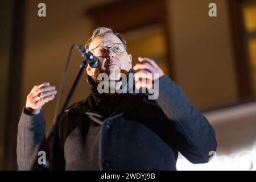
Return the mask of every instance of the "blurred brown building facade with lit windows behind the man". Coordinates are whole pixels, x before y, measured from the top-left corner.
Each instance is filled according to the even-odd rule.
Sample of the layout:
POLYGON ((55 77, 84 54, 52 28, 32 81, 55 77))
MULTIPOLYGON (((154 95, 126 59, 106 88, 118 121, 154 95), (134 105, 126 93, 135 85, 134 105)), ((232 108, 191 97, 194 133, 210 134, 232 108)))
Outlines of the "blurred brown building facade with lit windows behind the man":
MULTIPOLYGON (((16 169, 16 127, 32 86, 59 88, 73 43, 108 26, 127 39, 133 64, 151 57, 204 112, 216 130, 219 155, 248 150, 256 141, 256 2, 241 0, 2 1, 0 169, 16 169), (208 15, 216 3, 217 17, 208 15)), ((74 51, 65 95, 81 56, 74 51)), ((86 73, 71 102, 90 94, 86 73)), ((56 99, 45 107, 47 129, 56 99)), ((179 163, 180 165, 181 163, 179 163)), ((256 164, 254 164, 256 166, 256 164)), ((182 168, 182 165, 180 167, 182 168)))

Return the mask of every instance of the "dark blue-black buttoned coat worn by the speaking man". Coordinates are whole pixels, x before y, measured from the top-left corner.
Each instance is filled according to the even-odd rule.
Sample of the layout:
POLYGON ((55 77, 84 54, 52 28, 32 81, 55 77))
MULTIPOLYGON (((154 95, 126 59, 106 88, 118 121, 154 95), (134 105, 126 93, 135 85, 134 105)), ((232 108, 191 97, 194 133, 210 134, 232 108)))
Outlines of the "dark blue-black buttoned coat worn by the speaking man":
MULTIPOLYGON (((157 100, 148 100, 146 94, 126 94, 108 118, 96 112, 92 100, 89 96, 65 110, 55 141, 55 169, 175 170, 178 151, 192 163, 207 163, 209 152, 216 151, 212 126, 167 76, 159 80, 157 100)), ((31 168, 33 158, 27 155, 35 155, 44 140, 43 119, 43 111, 37 116, 22 114, 19 169, 31 168), (23 120, 31 120, 33 129, 23 120), (37 139, 26 139, 24 127, 37 139)))

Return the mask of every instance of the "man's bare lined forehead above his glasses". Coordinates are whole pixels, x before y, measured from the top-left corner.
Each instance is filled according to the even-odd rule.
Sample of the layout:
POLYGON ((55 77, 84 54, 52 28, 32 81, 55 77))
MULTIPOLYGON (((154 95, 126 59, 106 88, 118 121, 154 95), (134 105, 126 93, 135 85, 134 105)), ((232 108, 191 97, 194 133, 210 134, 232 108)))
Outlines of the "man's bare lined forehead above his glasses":
POLYGON ((93 49, 98 46, 108 46, 113 43, 122 43, 121 40, 115 36, 114 34, 106 34, 104 36, 97 36, 93 39, 92 43, 90 43, 89 48, 93 49))

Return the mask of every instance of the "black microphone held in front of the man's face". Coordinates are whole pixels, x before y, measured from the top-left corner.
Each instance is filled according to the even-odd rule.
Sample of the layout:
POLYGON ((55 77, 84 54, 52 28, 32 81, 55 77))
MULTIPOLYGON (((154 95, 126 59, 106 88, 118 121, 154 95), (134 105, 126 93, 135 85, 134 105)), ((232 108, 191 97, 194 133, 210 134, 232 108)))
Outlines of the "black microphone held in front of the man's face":
POLYGON ((84 57, 85 60, 88 61, 88 64, 92 68, 98 68, 101 65, 101 59, 100 57, 93 56, 92 52, 88 51, 84 46, 81 46, 79 44, 75 44, 76 48, 79 49, 79 52, 82 54, 82 57, 84 57))

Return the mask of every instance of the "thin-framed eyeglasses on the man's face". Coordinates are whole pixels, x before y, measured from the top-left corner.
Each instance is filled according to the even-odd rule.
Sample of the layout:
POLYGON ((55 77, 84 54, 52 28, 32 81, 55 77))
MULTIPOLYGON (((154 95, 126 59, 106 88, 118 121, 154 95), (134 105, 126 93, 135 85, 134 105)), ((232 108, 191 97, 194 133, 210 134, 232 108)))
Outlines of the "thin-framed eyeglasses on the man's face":
POLYGON ((100 46, 100 47, 96 47, 93 48, 91 50, 91 52, 95 55, 95 56, 99 56, 99 57, 104 57, 106 55, 106 53, 108 52, 108 49, 112 49, 112 51, 114 53, 122 53, 125 52, 125 47, 123 46, 122 43, 114 43, 114 44, 109 44, 108 46, 100 46))

